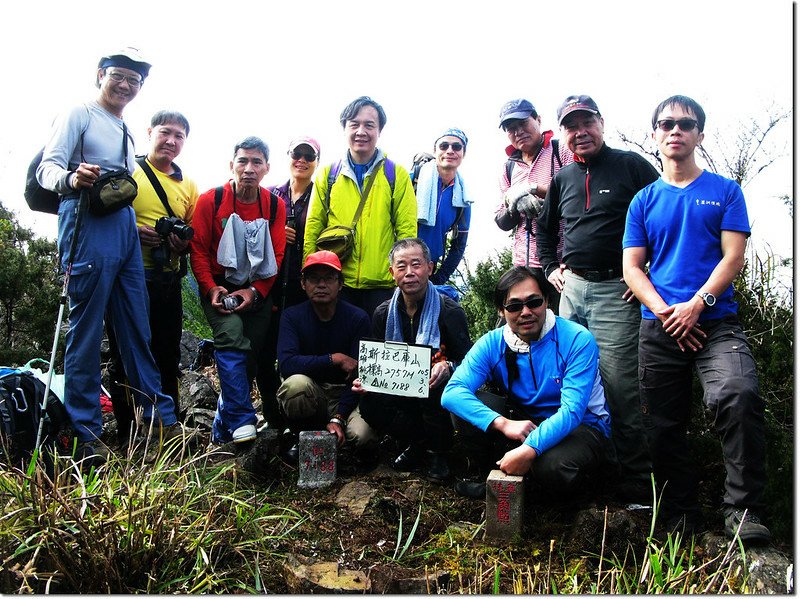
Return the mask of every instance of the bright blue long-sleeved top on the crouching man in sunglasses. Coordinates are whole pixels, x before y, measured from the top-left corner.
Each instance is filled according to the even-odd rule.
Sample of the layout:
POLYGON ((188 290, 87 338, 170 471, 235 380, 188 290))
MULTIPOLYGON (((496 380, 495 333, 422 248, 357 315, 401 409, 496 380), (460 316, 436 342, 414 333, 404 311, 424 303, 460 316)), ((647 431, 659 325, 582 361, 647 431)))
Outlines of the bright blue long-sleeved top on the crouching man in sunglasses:
MULTIPOLYGON (((445 408, 483 431, 501 414, 475 392, 489 381, 508 389, 505 350, 502 328, 486 333, 456 368, 442 395, 445 408)), ((538 425, 525 439, 537 454, 560 443, 580 424, 609 436, 599 352, 586 328, 556 317, 555 326, 531 344, 530 353, 514 355, 519 375, 513 382, 513 401, 538 425)))

